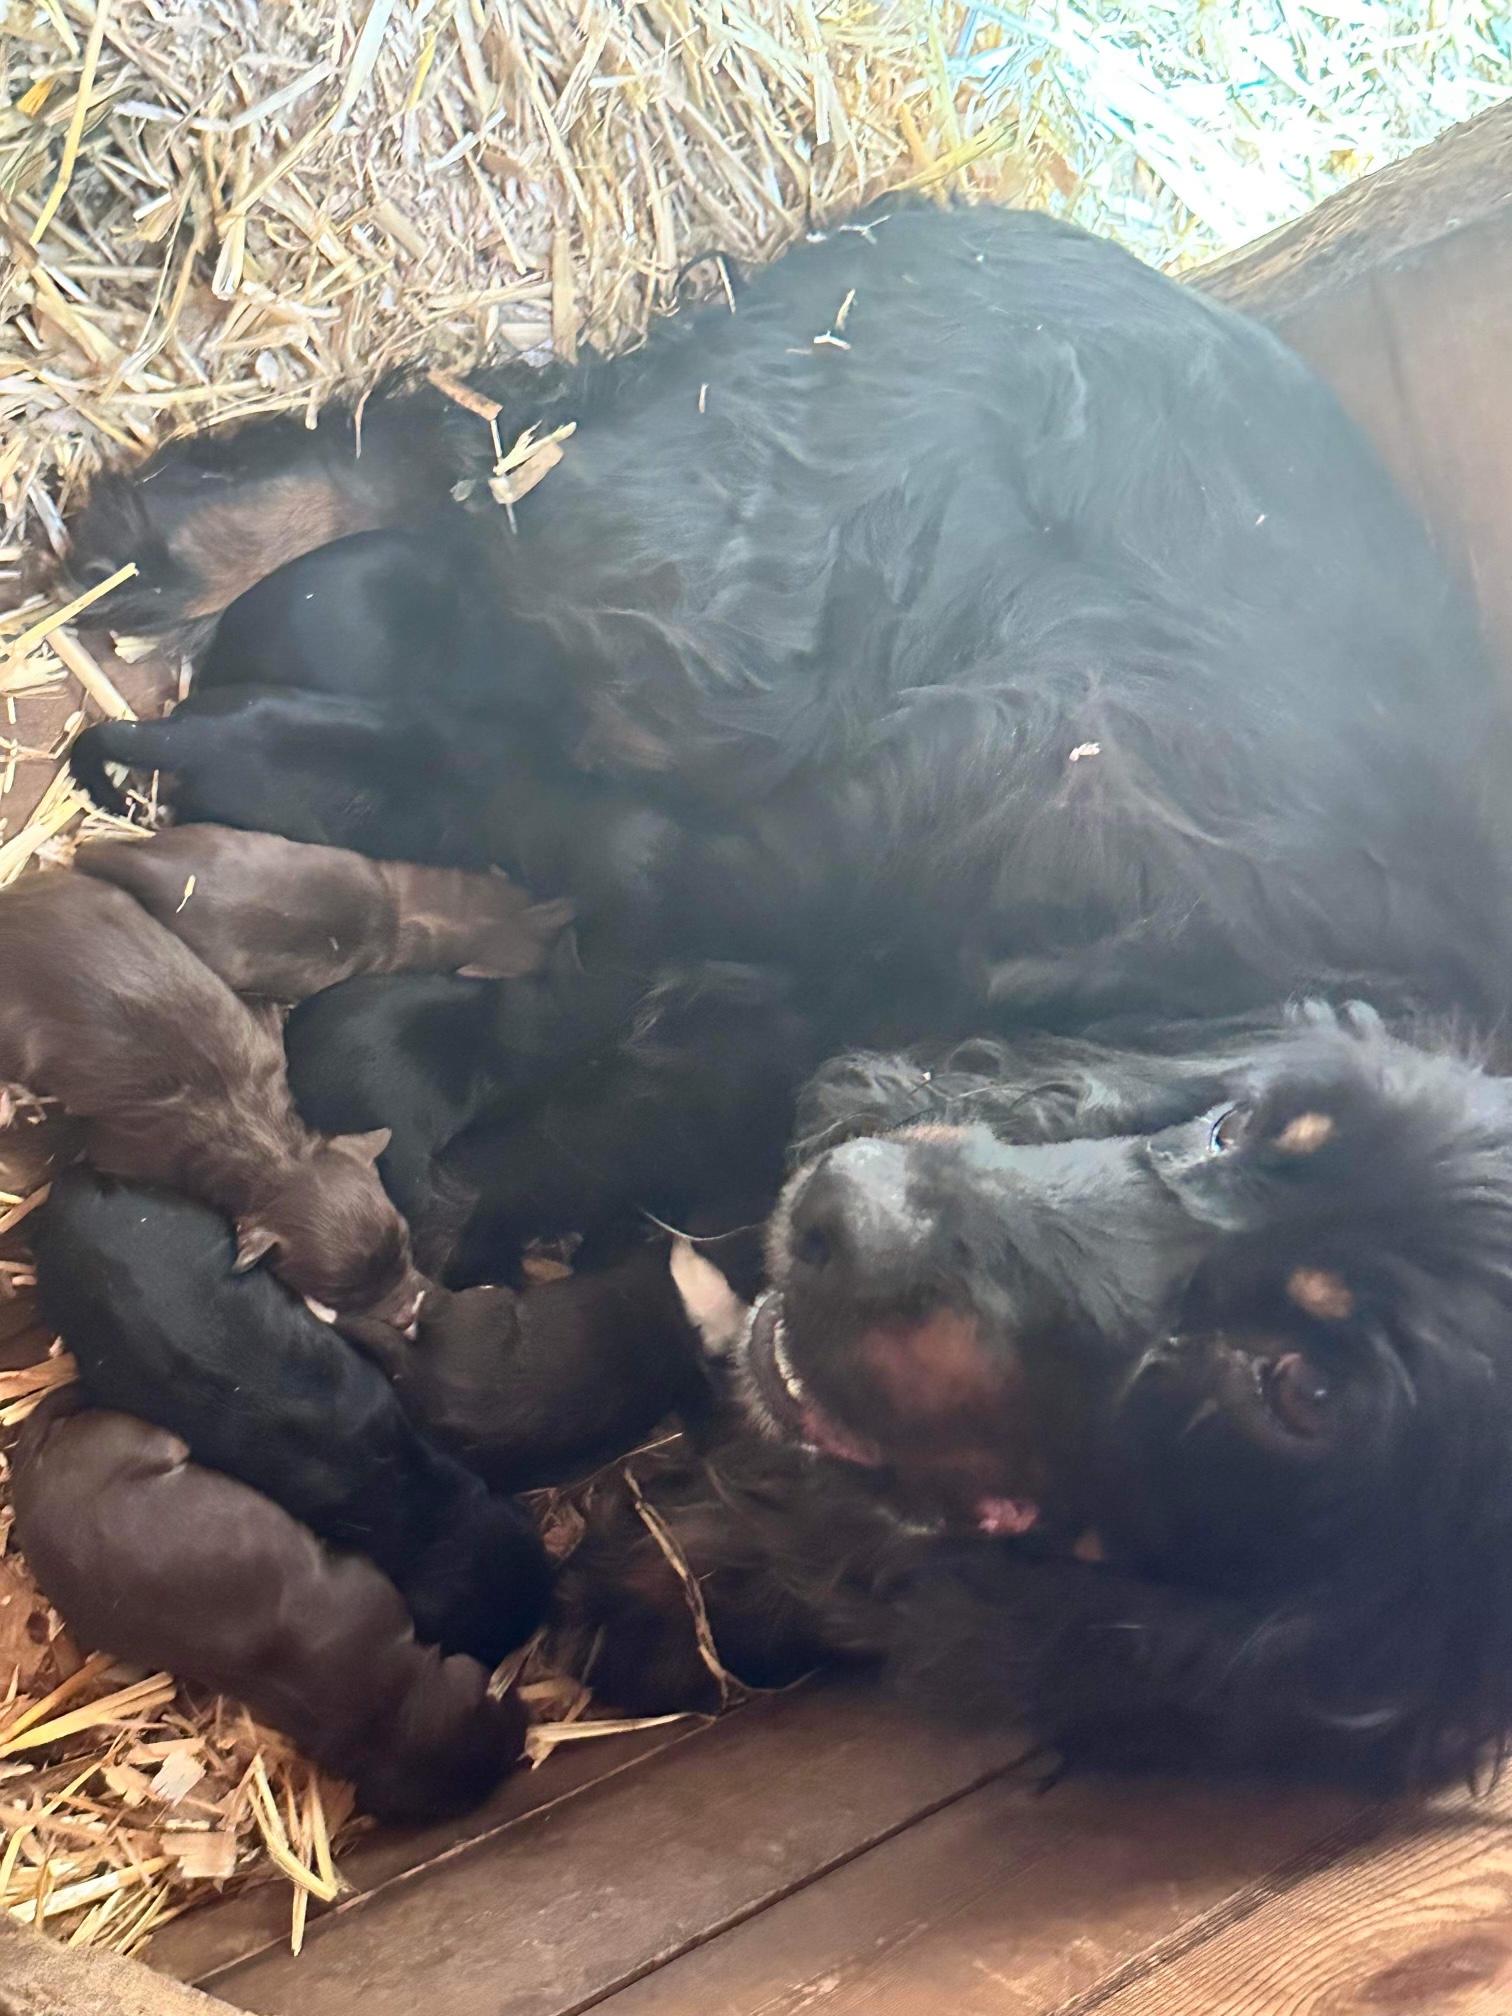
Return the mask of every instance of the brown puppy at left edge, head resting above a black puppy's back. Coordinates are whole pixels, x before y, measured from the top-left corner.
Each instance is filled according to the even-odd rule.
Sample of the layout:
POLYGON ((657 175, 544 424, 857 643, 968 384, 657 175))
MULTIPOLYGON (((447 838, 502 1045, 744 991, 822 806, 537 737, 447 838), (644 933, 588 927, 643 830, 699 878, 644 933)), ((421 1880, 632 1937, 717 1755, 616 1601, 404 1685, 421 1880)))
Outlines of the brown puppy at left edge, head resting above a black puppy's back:
POLYGON ((240 1268, 266 1256, 298 1294, 411 1320, 421 1282, 373 1167, 387 1133, 310 1133, 276 1016, 123 889, 34 875, 0 893, 0 1083, 85 1121, 105 1173, 220 1210, 240 1268))

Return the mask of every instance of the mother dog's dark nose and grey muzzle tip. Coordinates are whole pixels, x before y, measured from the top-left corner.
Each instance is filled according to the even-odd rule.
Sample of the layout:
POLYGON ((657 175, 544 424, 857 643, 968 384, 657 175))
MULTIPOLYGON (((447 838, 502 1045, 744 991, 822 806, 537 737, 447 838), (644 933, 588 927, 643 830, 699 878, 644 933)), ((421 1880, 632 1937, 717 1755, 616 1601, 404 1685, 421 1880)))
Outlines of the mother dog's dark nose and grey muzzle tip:
POLYGON ((881 1296, 919 1282, 931 1214, 909 1202, 897 1141, 847 1141, 823 1155, 792 1204, 790 1256, 814 1286, 881 1296))

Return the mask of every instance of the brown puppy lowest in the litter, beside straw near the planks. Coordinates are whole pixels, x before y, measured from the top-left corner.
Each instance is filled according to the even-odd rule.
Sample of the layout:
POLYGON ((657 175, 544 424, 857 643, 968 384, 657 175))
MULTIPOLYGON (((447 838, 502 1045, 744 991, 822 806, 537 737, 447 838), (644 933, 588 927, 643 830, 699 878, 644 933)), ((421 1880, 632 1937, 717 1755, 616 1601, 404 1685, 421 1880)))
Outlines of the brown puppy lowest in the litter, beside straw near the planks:
POLYGON ((12 1486, 26 1558, 85 1645, 236 1695, 381 1818, 460 1812, 504 1776, 518 1702, 492 1699, 476 1659, 417 1645, 369 1560, 165 1429, 71 1399, 26 1423, 12 1486))

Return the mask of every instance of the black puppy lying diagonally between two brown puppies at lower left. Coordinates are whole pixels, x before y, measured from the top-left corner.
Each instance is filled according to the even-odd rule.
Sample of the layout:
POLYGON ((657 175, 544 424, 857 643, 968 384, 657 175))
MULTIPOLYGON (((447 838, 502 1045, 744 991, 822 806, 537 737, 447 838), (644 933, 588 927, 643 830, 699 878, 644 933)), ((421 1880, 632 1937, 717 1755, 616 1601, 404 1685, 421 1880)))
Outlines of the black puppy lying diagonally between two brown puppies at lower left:
POLYGON ((91 1405, 179 1435, 397 1585, 421 1639, 494 1665, 540 1623, 534 1526, 409 1423, 383 1375, 270 1274, 234 1274, 230 1228, 159 1191, 62 1175, 36 1226, 46 1320, 91 1405))

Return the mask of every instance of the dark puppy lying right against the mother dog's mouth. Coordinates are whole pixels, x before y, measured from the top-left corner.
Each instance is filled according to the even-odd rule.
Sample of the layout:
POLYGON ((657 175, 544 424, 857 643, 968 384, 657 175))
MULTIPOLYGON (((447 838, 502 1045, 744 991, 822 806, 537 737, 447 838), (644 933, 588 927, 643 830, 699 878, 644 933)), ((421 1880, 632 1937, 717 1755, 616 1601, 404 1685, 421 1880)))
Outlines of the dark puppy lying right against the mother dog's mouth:
POLYGON ((665 1244, 520 1294, 431 1290, 413 1345, 363 1318, 343 1333, 417 1427, 504 1492, 560 1484, 712 1397, 665 1244))

